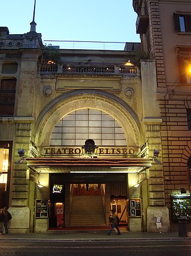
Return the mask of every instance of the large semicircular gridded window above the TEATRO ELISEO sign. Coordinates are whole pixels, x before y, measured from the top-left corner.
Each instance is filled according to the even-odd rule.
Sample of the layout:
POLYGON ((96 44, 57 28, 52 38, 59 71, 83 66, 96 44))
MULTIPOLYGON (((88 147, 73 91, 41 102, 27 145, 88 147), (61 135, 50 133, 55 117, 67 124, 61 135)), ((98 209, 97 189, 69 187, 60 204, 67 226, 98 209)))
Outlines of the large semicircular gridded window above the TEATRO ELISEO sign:
POLYGON ((60 119, 51 135, 51 146, 82 146, 88 138, 99 146, 127 146, 121 125, 95 109, 76 110, 60 119))

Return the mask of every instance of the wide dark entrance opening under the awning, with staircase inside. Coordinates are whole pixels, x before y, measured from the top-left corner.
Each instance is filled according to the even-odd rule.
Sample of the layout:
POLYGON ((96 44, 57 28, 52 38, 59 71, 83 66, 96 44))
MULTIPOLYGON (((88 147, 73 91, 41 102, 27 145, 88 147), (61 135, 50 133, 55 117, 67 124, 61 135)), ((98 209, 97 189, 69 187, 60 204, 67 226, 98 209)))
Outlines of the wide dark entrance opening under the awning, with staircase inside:
POLYGON ((126 179, 127 174, 121 173, 50 174, 49 228, 106 227, 110 196, 119 197, 116 210, 126 224, 126 179))

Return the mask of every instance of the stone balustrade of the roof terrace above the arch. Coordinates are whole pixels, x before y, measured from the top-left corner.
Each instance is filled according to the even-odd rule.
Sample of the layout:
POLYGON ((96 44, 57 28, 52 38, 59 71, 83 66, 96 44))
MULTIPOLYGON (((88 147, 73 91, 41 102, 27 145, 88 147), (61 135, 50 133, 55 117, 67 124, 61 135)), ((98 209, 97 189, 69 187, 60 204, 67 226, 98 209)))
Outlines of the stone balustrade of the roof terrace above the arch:
POLYGON ((83 65, 56 65, 41 64, 39 67, 40 74, 127 74, 129 76, 135 76, 137 74, 137 68, 134 66, 83 66, 83 65))

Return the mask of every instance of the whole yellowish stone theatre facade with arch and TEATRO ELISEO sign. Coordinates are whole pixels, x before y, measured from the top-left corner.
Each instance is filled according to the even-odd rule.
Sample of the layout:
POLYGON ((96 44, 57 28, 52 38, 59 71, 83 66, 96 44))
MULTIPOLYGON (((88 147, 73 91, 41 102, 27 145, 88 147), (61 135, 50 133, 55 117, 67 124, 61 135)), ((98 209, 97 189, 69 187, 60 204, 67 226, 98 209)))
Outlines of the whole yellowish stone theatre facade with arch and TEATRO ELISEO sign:
POLYGON ((107 228, 111 209, 130 231, 170 230, 155 61, 137 64, 139 47, 54 52, 33 28, 0 28, 0 204, 10 232, 107 228))

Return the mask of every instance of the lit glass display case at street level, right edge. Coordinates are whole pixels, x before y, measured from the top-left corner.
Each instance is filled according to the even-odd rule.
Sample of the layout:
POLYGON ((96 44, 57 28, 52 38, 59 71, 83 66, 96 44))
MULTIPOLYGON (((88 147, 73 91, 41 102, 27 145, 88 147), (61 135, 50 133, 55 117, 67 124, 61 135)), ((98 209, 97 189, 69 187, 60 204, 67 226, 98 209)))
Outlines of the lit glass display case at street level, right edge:
POLYGON ((172 221, 178 221, 181 217, 191 218, 190 195, 171 195, 172 221))

